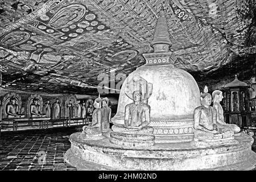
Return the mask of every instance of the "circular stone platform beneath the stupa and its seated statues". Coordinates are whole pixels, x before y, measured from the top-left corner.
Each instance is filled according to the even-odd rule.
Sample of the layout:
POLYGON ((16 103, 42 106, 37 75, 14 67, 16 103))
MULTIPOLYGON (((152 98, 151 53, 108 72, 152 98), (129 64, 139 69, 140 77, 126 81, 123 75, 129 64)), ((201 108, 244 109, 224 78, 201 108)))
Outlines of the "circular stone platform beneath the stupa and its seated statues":
POLYGON ((81 133, 69 137, 65 162, 78 170, 250 170, 256 164, 253 138, 242 134, 238 144, 197 148, 190 142, 156 143, 152 147, 126 147, 109 138, 85 140, 81 133))

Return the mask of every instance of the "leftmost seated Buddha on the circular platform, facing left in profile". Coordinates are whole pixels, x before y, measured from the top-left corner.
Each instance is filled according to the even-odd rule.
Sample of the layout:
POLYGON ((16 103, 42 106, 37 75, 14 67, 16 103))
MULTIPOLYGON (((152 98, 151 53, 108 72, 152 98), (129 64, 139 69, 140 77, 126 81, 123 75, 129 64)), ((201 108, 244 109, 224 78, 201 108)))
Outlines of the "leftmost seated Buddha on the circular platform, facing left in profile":
POLYGON ((101 98, 94 100, 93 106, 96 108, 92 114, 92 123, 89 126, 82 127, 85 134, 85 139, 100 139, 102 136, 102 112, 101 112, 101 98))

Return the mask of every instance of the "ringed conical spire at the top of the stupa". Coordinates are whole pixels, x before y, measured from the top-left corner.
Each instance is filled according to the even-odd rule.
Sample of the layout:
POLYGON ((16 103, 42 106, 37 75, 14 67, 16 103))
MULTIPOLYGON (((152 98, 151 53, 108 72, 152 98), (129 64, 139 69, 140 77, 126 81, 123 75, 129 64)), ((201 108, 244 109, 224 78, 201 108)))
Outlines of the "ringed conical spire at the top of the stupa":
POLYGON ((168 24, 164 13, 163 6, 161 7, 159 18, 156 22, 154 39, 151 42, 154 52, 168 52, 171 46, 169 38, 168 24))

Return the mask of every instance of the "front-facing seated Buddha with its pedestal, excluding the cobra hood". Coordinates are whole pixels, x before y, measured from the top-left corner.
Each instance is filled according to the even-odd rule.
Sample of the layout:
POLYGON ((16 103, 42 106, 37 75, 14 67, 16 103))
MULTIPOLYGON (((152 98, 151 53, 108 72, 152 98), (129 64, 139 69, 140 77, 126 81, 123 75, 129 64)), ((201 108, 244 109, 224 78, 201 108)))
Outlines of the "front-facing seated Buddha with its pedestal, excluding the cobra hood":
POLYGON ((133 92, 133 103, 125 106, 125 124, 113 125, 110 142, 124 146, 154 146, 154 129, 150 126, 150 106, 142 102, 142 92, 133 92))

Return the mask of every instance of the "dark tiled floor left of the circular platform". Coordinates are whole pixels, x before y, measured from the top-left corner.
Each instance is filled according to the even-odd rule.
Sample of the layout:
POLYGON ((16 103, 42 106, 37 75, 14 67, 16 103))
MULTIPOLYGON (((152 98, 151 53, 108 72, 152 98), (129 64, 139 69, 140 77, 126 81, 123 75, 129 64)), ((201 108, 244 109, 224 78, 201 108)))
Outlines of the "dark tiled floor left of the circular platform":
MULTIPOLYGON (((75 132, 77 129, 70 127, 2 133, 0 170, 76 170, 64 163, 63 159, 65 151, 71 145, 68 136, 75 132)), ((256 152, 256 142, 252 148, 256 152)))

